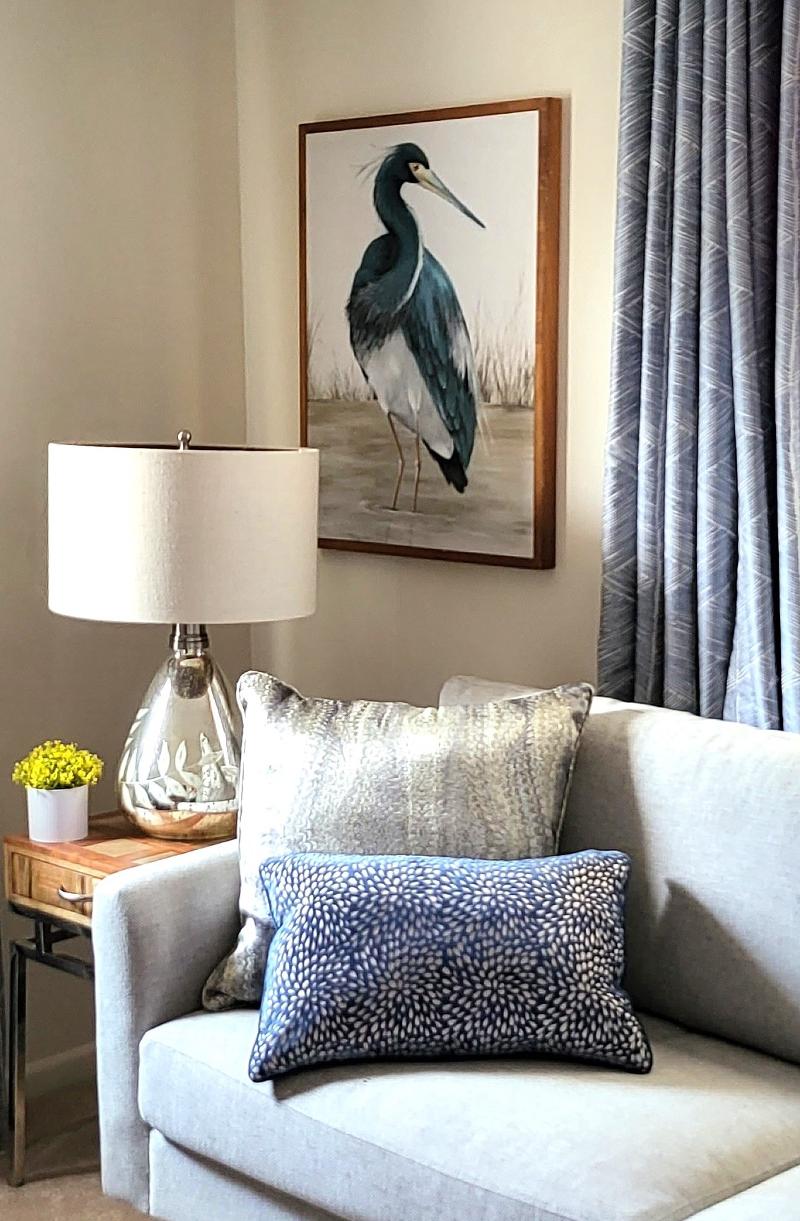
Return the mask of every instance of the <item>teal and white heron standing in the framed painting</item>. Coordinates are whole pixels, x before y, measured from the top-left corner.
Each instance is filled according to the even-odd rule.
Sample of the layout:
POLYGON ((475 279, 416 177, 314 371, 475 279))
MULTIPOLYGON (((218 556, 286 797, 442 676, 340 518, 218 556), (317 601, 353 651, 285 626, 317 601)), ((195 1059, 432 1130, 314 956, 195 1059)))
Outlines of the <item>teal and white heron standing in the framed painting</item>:
POLYGON ((413 512, 420 441, 457 492, 467 487, 475 441, 478 380, 469 331, 453 283, 430 250, 402 190, 418 184, 485 228, 434 173, 418 144, 398 144, 375 175, 373 201, 386 232, 366 247, 347 302, 351 344, 386 413, 397 446, 397 508, 405 459, 402 424, 415 438, 413 512))

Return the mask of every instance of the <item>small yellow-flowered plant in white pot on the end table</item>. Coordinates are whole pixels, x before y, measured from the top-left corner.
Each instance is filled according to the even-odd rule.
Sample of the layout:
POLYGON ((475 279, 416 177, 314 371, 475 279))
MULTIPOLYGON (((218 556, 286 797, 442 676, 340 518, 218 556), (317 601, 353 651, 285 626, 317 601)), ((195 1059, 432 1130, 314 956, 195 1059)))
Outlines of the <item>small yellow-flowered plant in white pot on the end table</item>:
POLYGON ((28 790, 28 834, 39 844, 84 839, 89 833, 89 785, 103 759, 59 739, 34 746, 15 763, 11 779, 28 790))

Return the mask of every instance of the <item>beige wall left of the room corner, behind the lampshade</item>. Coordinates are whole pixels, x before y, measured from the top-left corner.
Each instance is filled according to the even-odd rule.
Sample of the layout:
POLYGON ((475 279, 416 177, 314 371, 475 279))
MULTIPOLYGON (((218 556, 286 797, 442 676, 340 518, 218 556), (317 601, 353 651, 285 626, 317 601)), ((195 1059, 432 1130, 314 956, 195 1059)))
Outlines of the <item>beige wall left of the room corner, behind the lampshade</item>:
MULTIPOLYGON (((242 442, 232 5, 0 2, 0 833, 12 761, 77 737, 114 772, 162 628, 46 609, 51 440, 242 442)), ((103 505, 98 505, 103 512, 103 505)), ((101 563, 76 540, 76 564, 101 563)), ((231 672, 247 631, 216 634, 231 672)), ((106 783, 95 808, 111 797, 106 783)), ((21 926, 17 926, 21 929, 21 926)), ((2 917, 2 932, 9 922, 2 917)), ((34 968, 34 1057, 92 1037, 90 989, 34 968)))

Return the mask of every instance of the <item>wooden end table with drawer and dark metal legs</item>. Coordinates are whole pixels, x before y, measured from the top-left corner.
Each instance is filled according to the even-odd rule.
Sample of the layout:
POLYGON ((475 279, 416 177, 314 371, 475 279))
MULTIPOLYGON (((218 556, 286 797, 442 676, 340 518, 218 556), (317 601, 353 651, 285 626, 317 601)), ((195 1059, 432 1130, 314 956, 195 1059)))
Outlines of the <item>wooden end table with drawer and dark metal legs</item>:
MULTIPOLYGON (((81 979, 93 979, 92 962, 59 952, 59 945, 72 938, 90 940, 92 895, 96 883, 120 869, 206 846, 208 841, 192 844, 151 839, 138 832, 121 813, 95 814, 89 819, 88 836, 72 844, 37 844, 26 835, 7 835, 4 839, 9 906, 33 922, 29 938, 10 943, 9 1182, 12 1187, 24 1182, 27 963, 40 962, 81 979)), ((1 991, 0 987, 0 1035, 1 991)))

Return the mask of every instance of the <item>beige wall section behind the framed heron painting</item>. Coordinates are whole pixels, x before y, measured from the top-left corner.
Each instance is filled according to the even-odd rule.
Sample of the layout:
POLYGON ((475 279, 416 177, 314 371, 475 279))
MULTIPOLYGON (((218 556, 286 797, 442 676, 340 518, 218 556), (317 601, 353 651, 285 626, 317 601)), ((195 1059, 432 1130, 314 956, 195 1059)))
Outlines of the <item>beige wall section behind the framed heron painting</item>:
POLYGON ((237 0, 248 435, 297 438, 297 123, 561 94, 567 103, 558 567, 322 553, 314 619, 255 630, 309 691, 434 700, 470 670, 595 672, 620 0, 237 0))

